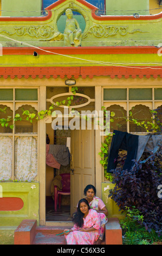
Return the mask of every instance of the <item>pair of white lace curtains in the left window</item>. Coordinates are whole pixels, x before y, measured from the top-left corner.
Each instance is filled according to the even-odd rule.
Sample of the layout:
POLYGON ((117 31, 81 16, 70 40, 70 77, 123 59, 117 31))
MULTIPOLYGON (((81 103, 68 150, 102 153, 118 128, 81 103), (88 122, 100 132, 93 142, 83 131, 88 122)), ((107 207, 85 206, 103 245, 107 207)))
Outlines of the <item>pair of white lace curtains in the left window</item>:
MULTIPOLYGON (((34 180, 37 175, 37 140, 32 136, 22 136, 15 141, 15 178, 34 180)), ((12 176, 12 138, 0 136, 0 180, 12 176)))

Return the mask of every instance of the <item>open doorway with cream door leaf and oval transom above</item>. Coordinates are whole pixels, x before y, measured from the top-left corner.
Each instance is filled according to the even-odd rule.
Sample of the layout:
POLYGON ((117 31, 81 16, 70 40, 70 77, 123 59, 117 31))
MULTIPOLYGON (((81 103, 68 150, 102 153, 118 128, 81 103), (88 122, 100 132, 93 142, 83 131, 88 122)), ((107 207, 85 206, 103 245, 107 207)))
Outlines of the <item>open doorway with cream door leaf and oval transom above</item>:
MULTIPOLYGON (((56 102, 61 102, 64 99, 68 99, 68 97, 73 94, 71 92, 71 89, 72 88, 70 86, 47 87, 47 109, 51 106, 51 104, 55 103, 54 110, 61 111, 63 116, 63 122, 61 122, 61 127, 62 125, 67 125, 67 107, 57 107, 56 102)), ((68 107, 68 114, 73 109, 78 111, 80 114, 81 111, 93 112, 95 110, 94 87, 79 87, 77 88, 77 93, 75 93, 75 95, 72 96, 73 100, 71 101, 70 106, 68 107)), ((56 117, 56 122, 58 122, 58 120, 59 119, 57 119, 56 117)), ((70 138, 71 162, 67 164, 67 166, 61 165, 59 168, 53 168, 46 164, 46 222, 71 222, 72 216, 76 211, 77 203, 84 196, 83 188, 85 188, 85 186, 88 184, 95 185, 94 129, 87 129, 87 125, 85 125, 85 129, 83 129, 81 118, 78 119, 78 115, 76 115, 75 119, 75 115, 73 117, 73 114, 70 115, 70 117, 68 117, 68 128, 67 126, 64 126, 63 130, 54 131, 54 129, 52 128, 53 121, 51 121, 50 118, 46 121, 46 133, 48 135, 47 139, 49 140, 48 143, 52 145, 66 145, 67 138, 70 138), (79 129, 69 129, 69 127, 73 125, 77 126, 77 128, 79 127, 79 129), (57 211, 55 211, 54 200, 51 194, 51 184, 53 182, 53 179, 62 173, 70 173, 70 195, 61 196, 61 208, 59 209, 57 207, 57 211)))

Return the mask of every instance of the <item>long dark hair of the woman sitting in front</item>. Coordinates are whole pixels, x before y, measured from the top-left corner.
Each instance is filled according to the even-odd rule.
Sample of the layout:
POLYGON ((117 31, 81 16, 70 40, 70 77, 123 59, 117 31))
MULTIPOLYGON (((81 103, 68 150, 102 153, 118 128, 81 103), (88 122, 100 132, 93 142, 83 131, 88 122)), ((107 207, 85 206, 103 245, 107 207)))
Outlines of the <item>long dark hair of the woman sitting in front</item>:
POLYGON ((84 221, 83 221, 84 214, 80 210, 80 204, 83 203, 83 202, 86 203, 87 206, 88 206, 88 209, 90 209, 89 203, 88 203, 88 201, 85 198, 79 200, 79 202, 77 204, 77 210, 76 210, 75 214, 73 215, 73 222, 79 228, 81 228, 83 226, 83 224, 84 224, 84 221))

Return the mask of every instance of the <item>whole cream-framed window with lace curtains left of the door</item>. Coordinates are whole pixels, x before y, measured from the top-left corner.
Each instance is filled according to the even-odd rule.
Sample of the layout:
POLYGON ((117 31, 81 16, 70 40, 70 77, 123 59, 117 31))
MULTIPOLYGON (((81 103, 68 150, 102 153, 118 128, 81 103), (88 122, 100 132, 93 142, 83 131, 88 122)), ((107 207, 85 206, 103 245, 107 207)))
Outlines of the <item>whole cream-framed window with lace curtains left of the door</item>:
POLYGON ((37 104, 37 89, 0 89, 0 180, 37 179, 37 120, 23 115, 37 115, 37 104))

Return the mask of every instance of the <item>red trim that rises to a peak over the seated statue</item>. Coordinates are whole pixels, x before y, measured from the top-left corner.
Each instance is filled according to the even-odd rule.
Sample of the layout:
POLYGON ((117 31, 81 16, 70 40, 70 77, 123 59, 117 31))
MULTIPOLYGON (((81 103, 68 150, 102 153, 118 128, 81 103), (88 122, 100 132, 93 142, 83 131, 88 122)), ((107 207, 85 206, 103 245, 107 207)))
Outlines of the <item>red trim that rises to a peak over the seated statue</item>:
MULTIPOLYGON (((59 0, 59 1, 49 5, 49 7, 45 8, 45 10, 48 11, 47 16, 43 16, 43 17, 0 17, 0 22, 1 21, 44 21, 44 20, 48 20, 51 17, 51 10, 66 1, 67 0, 59 0)), ((92 11, 92 17, 94 18, 94 20, 98 20, 98 21, 133 20, 134 22, 136 22, 139 20, 158 20, 162 17, 162 13, 157 14, 157 15, 146 15, 146 16, 142 15, 138 19, 135 18, 134 16, 97 16, 95 14, 95 11, 98 10, 98 8, 96 8, 94 5, 88 3, 84 0, 75 0, 75 1, 88 7, 92 11)))

